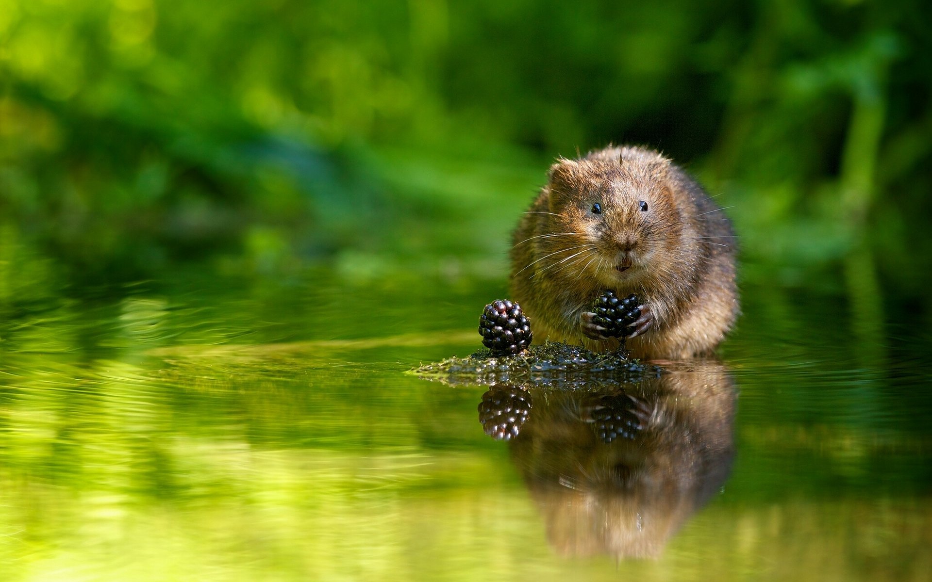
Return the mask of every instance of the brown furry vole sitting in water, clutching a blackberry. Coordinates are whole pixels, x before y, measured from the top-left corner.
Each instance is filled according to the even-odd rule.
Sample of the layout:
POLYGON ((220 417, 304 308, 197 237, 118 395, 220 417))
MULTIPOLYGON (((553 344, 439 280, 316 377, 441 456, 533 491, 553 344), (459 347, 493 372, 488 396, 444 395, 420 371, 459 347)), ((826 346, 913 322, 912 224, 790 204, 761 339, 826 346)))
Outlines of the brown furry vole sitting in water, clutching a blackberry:
POLYGON ((602 290, 637 293, 637 358, 684 359, 719 345, 738 313, 732 225, 699 184, 640 147, 560 159, 514 231, 513 298, 537 341, 600 351, 618 340, 589 311, 602 290), (539 339, 538 339, 539 338, 539 339))

